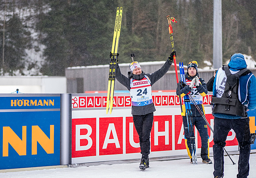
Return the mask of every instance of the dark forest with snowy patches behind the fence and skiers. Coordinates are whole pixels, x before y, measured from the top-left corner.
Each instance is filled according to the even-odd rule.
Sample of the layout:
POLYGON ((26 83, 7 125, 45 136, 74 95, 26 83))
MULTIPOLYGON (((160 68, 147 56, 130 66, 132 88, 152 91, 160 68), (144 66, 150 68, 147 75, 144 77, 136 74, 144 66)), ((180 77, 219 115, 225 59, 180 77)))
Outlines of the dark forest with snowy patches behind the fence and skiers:
MULTIPOLYGON (((177 61, 213 61, 213 0, 0 0, 0 75, 65 75, 109 63, 115 13, 123 7, 119 62, 167 60, 167 15, 177 61), (31 55, 37 54, 35 56, 31 55), (38 57, 39 56, 39 57, 38 57)), ((222 0, 223 62, 256 57, 256 0, 222 0)))

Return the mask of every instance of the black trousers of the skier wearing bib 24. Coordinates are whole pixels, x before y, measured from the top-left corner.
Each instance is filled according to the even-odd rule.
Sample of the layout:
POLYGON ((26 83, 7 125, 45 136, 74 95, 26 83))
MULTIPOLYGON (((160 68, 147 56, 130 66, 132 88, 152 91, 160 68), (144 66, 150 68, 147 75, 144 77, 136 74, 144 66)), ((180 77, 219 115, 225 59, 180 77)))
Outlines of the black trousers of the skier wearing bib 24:
POLYGON ((132 115, 136 131, 139 135, 142 158, 148 159, 150 154, 150 132, 153 124, 153 113, 145 115, 132 115))

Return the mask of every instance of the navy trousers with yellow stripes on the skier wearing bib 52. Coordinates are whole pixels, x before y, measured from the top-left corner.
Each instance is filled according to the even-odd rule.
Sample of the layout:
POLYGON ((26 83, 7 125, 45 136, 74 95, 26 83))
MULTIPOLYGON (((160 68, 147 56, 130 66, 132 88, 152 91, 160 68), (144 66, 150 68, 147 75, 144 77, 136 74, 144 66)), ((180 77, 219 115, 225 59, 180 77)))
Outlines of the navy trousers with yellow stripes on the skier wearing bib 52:
MULTIPOLYGON (((184 127, 184 137, 187 139, 187 144, 186 147, 187 149, 189 148, 189 157, 191 158, 192 155, 192 150, 191 150, 191 143, 192 139, 189 138, 189 129, 188 129, 188 123, 187 123, 187 117, 183 116, 183 127, 184 127)), ((208 135, 208 130, 207 130, 207 124, 202 116, 193 116, 193 125, 197 128, 199 135, 201 137, 201 158, 203 160, 209 159, 209 146, 208 146, 208 141, 209 141, 209 135, 208 135)), ((195 135, 194 132, 192 135, 195 135)))

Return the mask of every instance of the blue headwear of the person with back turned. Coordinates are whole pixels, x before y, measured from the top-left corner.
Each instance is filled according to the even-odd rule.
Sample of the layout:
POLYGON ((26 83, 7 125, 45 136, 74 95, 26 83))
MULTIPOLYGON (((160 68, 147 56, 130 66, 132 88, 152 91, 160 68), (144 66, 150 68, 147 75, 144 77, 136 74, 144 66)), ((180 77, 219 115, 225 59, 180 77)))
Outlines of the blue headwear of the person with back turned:
POLYGON ((245 57, 241 53, 236 53, 231 56, 230 62, 228 63, 228 66, 232 69, 245 69, 247 68, 247 64, 245 62, 245 57))

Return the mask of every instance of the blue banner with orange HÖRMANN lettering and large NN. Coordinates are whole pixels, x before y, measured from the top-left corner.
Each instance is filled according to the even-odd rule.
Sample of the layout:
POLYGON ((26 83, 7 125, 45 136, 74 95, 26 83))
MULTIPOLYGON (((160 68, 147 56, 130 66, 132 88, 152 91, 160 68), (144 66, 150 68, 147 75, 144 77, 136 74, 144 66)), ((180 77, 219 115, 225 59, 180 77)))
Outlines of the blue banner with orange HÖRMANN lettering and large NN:
POLYGON ((0 169, 60 164, 60 94, 0 94, 0 169))

